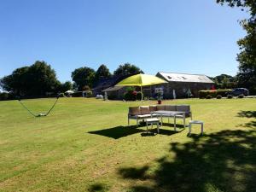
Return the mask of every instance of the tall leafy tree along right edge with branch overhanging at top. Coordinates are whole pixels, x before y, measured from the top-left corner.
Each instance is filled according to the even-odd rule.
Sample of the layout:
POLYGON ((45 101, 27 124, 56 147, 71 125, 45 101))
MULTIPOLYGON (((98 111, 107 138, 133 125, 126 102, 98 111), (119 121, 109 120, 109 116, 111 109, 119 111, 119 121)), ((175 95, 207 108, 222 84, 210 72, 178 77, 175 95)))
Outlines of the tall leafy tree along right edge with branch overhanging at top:
POLYGON ((256 0, 217 0, 217 3, 227 3, 230 7, 246 10, 250 17, 241 20, 241 26, 247 31, 247 36, 238 40, 241 52, 237 55, 239 61, 238 84, 256 93, 256 0))

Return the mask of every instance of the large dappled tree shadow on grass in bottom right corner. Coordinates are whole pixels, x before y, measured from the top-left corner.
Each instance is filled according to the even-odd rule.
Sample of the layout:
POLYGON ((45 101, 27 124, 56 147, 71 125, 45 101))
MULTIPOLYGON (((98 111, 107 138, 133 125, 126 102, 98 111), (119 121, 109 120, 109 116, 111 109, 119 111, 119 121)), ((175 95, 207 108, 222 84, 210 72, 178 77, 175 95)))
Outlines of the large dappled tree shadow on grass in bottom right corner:
MULTIPOLYGON (((119 169, 124 179, 136 180, 131 191, 256 191, 256 131, 219 131, 189 143, 170 143, 169 155, 155 160, 158 167, 119 169), (152 185, 142 182, 150 181, 152 185)), ((148 165, 148 164, 147 164, 148 165)))

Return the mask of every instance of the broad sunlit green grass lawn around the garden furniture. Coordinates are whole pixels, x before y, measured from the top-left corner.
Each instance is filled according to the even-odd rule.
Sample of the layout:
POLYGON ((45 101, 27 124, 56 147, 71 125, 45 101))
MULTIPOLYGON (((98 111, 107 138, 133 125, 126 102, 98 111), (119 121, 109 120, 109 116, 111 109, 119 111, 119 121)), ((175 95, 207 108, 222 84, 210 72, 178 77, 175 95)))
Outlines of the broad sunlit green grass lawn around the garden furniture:
MULTIPOLYGON (((52 102, 25 101, 35 113, 52 102)), ((126 127, 141 102, 61 98, 41 118, 0 102, 0 191, 256 191, 255 99, 164 103, 190 104, 204 136, 126 127)))

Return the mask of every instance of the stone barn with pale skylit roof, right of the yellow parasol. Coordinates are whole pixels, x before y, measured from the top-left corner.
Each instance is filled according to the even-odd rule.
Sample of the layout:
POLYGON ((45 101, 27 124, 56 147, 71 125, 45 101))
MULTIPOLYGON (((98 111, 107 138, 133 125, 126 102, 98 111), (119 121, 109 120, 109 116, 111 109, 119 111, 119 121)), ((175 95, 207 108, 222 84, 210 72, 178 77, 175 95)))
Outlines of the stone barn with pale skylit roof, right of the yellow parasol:
POLYGON ((156 76, 166 80, 168 84, 152 86, 151 89, 162 88, 166 99, 172 99, 173 92, 175 92, 177 98, 186 98, 190 94, 197 97, 199 90, 209 90, 214 84, 211 79, 203 74, 159 72, 156 76))

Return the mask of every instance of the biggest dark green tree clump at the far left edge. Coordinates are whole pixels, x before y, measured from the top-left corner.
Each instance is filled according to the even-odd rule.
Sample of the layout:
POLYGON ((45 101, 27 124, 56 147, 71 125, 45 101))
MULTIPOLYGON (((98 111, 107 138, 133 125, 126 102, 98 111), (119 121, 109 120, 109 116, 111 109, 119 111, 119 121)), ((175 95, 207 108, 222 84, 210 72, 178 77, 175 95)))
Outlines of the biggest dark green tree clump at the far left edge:
POLYGON ((36 61, 30 67, 20 67, 0 80, 3 90, 21 96, 45 96, 55 92, 58 80, 55 70, 46 62, 36 61))

